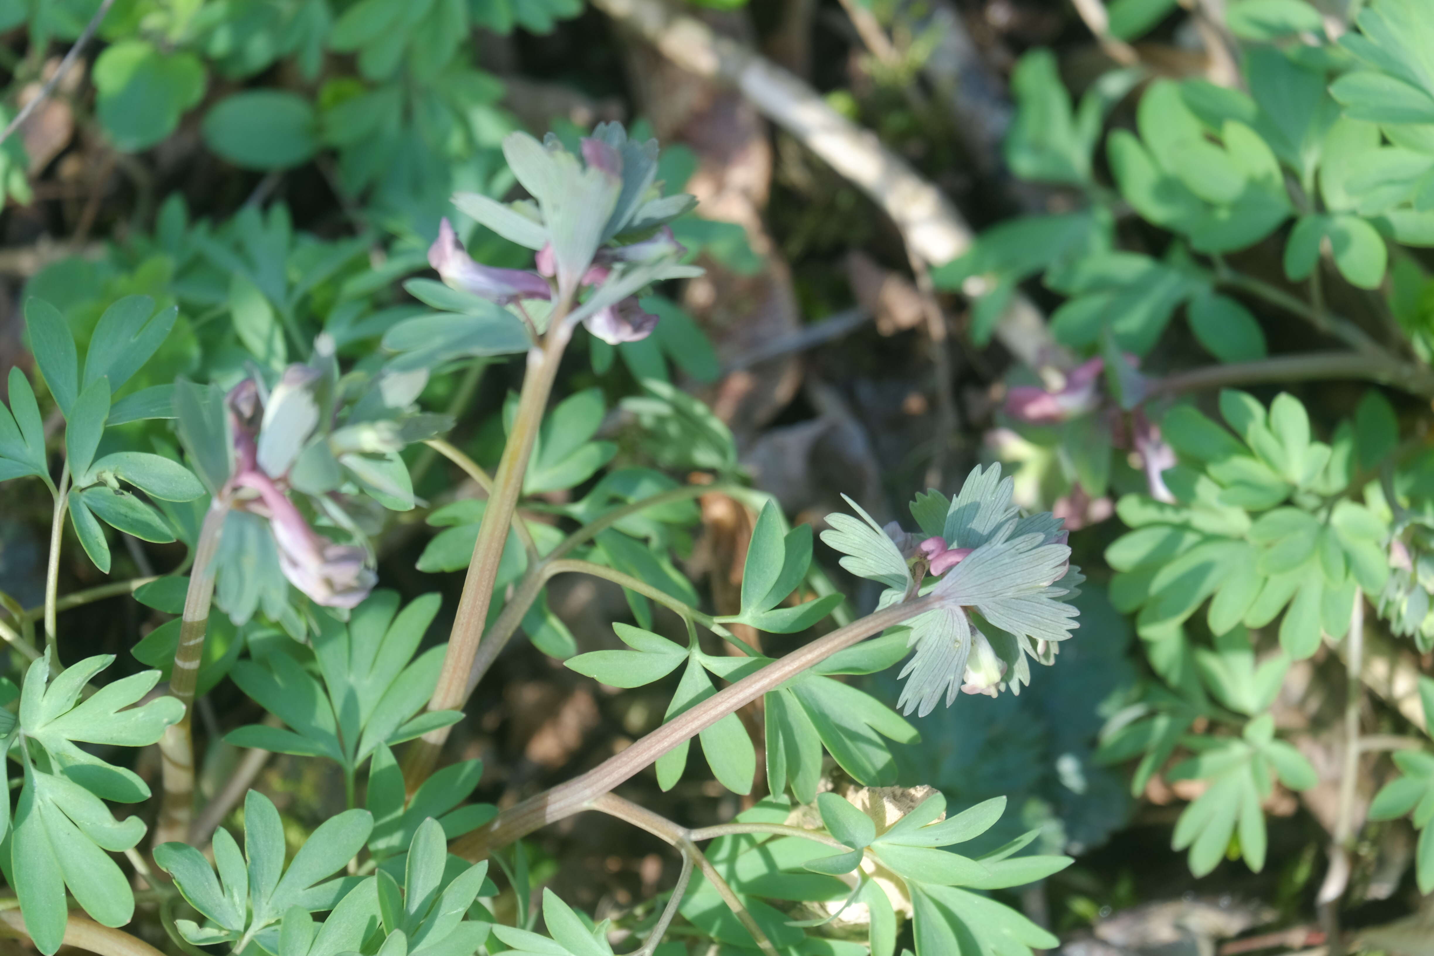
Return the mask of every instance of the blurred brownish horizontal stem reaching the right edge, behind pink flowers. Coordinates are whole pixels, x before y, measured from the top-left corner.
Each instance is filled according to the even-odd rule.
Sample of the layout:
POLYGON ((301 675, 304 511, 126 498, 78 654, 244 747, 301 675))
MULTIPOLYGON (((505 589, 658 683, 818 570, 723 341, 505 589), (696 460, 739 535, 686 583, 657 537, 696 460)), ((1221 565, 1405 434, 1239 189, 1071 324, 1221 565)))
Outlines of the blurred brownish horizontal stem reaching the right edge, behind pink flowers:
POLYGON ((1367 378, 1411 394, 1434 397, 1434 371, 1390 355, 1369 353, 1304 353, 1226 365, 1205 365, 1150 381, 1146 386, 1146 397, 1314 378, 1367 378))

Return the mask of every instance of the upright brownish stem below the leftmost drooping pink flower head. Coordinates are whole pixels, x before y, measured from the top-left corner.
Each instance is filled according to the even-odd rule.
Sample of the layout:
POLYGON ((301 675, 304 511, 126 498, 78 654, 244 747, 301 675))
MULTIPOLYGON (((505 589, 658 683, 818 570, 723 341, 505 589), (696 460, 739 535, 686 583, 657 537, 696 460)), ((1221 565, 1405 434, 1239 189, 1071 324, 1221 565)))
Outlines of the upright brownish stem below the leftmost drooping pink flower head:
POLYGON ((204 634, 209 623, 209 602, 214 599, 214 556, 219 550, 219 535, 229 503, 215 497, 204 516, 199 540, 195 545, 194 570, 189 575, 189 589, 184 598, 184 615, 179 623, 179 645, 175 648, 175 662, 169 672, 169 694, 184 704, 179 722, 165 728, 159 738, 162 757, 162 778, 165 795, 155 823, 153 846, 184 840, 194 820, 194 740, 191 721, 194 718, 194 692, 199 681, 199 664, 204 661, 204 634))

